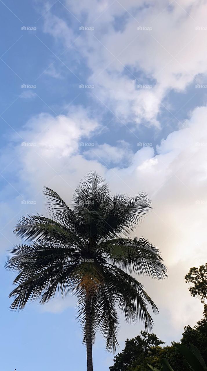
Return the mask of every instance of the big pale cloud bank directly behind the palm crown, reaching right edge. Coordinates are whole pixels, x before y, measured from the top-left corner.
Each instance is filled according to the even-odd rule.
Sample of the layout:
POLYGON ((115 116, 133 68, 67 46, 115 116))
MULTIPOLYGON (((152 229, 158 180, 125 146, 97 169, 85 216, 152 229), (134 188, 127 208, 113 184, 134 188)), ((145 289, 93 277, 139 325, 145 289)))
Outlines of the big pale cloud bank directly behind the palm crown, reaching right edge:
MULTIPOLYGON (((140 280, 145 283, 161 310, 162 319, 175 335, 181 333, 186 318, 188 323, 194 324, 202 313, 200 303, 188 292, 184 275, 191 266, 206 262, 206 115, 206 106, 196 108, 190 119, 183 122, 182 128, 161 141, 157 154, 154 148, 143 147, 134 154, 126 168, 116 166, 107 169, 97 158, 87 160, 81 154, 78 143, 82 135, 93 132, 98 125, 86 118, 83 112, 60 116, 51 124, 51 117, 41 114, 31 119, 21 132, 25 143, 32 142, 34 138, 37 143, 34 147, 25 146, 18 160, 19 187, 20 184, 27 184, 29 200, 36 200, 42 186, 48 185, 70 203, 74 187, 91 170, 106 178, 112 193, 118 191, 134 195, 146 191, 149 194, 154 209, 135 233, 160 247, 169 269, 169 278, 153 284, 147 278, 140 280), (179 306, 174 301, 175 297, 180 300, 179 306), (193 311, 188 310, 190 305, 193 305, 193 311)), ((107 158, 114 156, 112 161, 116 162, 119 146, 116 150, 115 146, 102 145, 97 150, 107 158)), ((16 148, 19 149, 17 144, 16 148)), ((10 166, 13 167, 7 168, 8 171, 15 167, 15 162, 10 166)), ((4 174, 5 177, 7 174, 4 174)), ((38 197, 41 198, 40 195, 38 197)), ((29 209, 29 206, 24 206, 22 213, 26 213, 27 207, 29 209)), ((35 208, 40 213, 43 211, 41 203, 35 208)), ((20 206, 15 213, 17 211, 20 211, 20 206)), ((61 305, 55 302, 54 311, 60 311, 61 305)), ((161 317, 155 318, 155 329, 164 334, 165 329, 159 329, 161 317)), ((136 328, 129 328, 123 336, 135 335, 135 332, 136 328)))

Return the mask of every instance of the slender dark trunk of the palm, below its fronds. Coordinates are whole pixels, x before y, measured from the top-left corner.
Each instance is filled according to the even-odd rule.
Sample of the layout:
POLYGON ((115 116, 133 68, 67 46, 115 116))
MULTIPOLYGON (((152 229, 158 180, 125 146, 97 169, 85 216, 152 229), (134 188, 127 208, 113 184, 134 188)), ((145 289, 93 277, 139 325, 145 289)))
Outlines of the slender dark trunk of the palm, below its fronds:
POLYGON ((91 336, 91 301, 86 298, 86 354, 87 371, 93 371, 92 336, 91 336))

